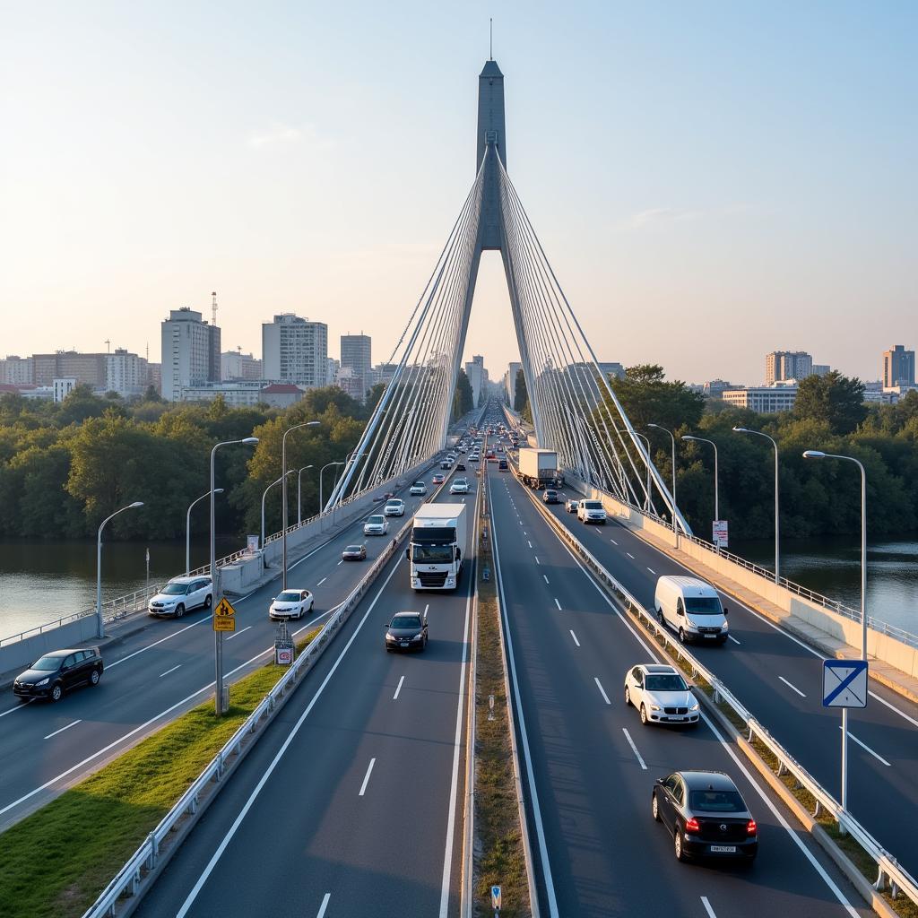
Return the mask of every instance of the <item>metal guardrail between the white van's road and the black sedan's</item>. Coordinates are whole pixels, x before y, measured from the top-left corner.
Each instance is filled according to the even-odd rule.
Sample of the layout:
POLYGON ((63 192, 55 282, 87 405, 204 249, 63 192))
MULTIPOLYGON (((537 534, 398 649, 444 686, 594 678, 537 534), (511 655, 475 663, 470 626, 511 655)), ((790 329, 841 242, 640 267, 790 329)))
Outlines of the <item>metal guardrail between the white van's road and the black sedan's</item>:
MULTIPOLYGON (((514 475, 516 473, 514 472, 514 475)), ((768 733, 765 727, 749 713, 744 705, 736 699, 730 689, 716 677, 710 669, 703 666, 699 660, 685 649, 685 646, 679 641, 673 639, 657 620, 644 606, 630 593, 615 577, 613 577, 606 568, 599 563, 599 560, 580 543, 580 541, 570 532, 566 526, 562 525, 549 510, 542 506, 535 496, 529 492, 530 499, 543 517, 549 522, 554 532, 557 532, 577 554, 587 563, 592 573, 610 589, 610 592, 617 594, 625 608, 635 615, 642 624, 644 629, 653 634, 655 637, 662 638, 666 651, 675 655, 677 659, 684 660, 692 670, 692 677, 702 677, 713 690, 715 702, 726 703, 736 715, 745 723, 748 730, 748 740, 751 743, 757 739, 766 746, 772 756, 778 761, 778 776, 785 772, 793 776, 802 789, 805 789, 812 795, 816 801, 813 817, 817 817, 821 811, 829 813, 836 823, 850 834, 870 856, 877 865, 877 879, 874 881, 875 890, 884 890, 887 885, 890 886, 892 898, 895 899, 900 893, 903 893, 907 899, 918 905, 918 881, 910 873, 901 867, 898 860, 890 854, 882 845, 879 844, 873 835, 869 834, 860 823, 849 812, 842 809, 842 805, 822 785, 812 777, 812 775, 800 765, 800 763, 791 756, 788 751, 778 743, 778 741, 768 733)))

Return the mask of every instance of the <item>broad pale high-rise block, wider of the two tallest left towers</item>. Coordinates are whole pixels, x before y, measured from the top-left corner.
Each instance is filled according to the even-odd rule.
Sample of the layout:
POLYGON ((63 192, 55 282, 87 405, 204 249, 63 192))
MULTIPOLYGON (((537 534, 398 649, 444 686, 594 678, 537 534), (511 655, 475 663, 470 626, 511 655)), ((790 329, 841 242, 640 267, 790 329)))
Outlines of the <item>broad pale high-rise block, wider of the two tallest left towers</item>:
POLYGON ((292 312, 262 325, 262 373, 265 379, 303 388, 325 386, 328 378, 329 327, 292 312))

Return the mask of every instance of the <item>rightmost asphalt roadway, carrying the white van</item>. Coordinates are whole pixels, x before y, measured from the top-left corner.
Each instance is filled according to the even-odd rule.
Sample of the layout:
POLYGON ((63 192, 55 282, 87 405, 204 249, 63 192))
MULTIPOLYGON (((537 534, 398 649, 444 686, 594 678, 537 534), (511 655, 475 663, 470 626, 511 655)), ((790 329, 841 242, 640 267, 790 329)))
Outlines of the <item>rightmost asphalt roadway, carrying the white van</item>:
MULTIPOLYGON (((567 496, 576 495, 567 492, 567 496)), ((691 575, 621 524, 587 526, 564 505, 551 505, 599 562, 647 609, 657 577, 691 575)), ((694 576, 694 575, 691 575, 694 576)), ((689 650, 722 678, 738 700, 836 800, 841 796, 841 711, 823 708, 823 656, 722 594, 733 640, 689 650)), ((918 705, 871 686, 864 710, 848 712, 848 805, 880 844, 918 875, 918 705), (886 703, 884 703, 886 702, 886 703)))

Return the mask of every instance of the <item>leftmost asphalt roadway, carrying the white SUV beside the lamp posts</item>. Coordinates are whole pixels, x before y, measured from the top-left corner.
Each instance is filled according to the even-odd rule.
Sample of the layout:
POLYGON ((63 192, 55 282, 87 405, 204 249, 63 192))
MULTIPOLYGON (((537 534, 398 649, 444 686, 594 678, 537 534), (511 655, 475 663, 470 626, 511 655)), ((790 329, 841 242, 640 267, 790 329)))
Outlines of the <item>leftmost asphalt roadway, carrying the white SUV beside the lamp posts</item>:
MULTIPOLYGON (((434 474, 431 470, 422 476, 429 493, 434 474)), ((407 515, 392 518, 390 532, 396 532, 425 499, 403 497, 407 515)), ((374 511, 381 512, 381 505, 374 511)), ((291 630, 302 629, 308 621, 316 621, 313 627, 324 621, 390 538, 364 537, 361 519, 289 565, 289 587, 306 588, 315 595, 312 615, 292 621, 291 630), (342 548, 353 542, 366 543, 367 560, 341 563, 342 548)), ((228 680, 239 679, 268 658, 277 627, 268 618, 268 608, 279 591, 279 580, 278 571, 268 584, 234 600, 236 632, 223 641, 223 672, 228 680)), ((95 689, 77 689, 57 704, 22 704, 10 691, 0 707, 0 831, 212 697, 213 647, 206 610, 177 620, 151 618, 141 632, 106 651, 106 671, 95 689)))

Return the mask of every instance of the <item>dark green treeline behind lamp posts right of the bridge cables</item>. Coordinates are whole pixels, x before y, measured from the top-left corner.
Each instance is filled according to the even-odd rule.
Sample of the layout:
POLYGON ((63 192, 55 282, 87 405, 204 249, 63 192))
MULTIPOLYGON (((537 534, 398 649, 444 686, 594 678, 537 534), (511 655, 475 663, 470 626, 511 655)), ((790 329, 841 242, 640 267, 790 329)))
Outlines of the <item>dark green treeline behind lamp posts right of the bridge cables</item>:
POLYGON ((648 424, 676 433, 678 506, 705 539, 711 539, 714 518, 713 451, 707 443, 679 441, 686 433, 717 443, 720 513, 730 521, 731 539, 767 538, 774 532, 774 450, 764 438, 733 427, 763 431, 778 443, 785 538, 860 532, 856 465, 804 459, 803 451, 811 449, 853 456, 864 465, 872 536, 918 528, 918 392, 897 405, 868 406, 859 380, 831 373, 803 380, 793 411, 762 415, 667 382, 657 365, 629 367, 612 388, 635 430, 650 437, 667 486, 671 442, 648 424))

